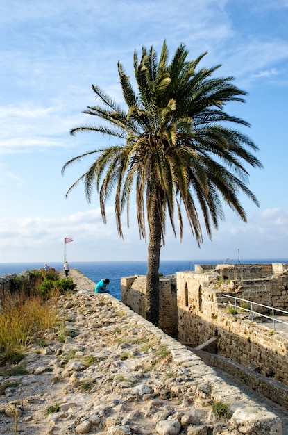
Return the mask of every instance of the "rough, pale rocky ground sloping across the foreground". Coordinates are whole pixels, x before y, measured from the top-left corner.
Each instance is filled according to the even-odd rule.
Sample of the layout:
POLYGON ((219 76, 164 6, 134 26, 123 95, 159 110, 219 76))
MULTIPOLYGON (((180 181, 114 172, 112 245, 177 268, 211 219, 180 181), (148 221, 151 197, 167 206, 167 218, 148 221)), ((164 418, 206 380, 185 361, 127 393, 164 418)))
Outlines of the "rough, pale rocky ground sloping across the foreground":
POLYGON ((273 413, 70 274, 77 288, 58 301, 58 328, 31 346, 26 374, 0 378, 0 434, 282 434, 273 413), (212 405, 223 397, 228 414, 217 418, 212 405))

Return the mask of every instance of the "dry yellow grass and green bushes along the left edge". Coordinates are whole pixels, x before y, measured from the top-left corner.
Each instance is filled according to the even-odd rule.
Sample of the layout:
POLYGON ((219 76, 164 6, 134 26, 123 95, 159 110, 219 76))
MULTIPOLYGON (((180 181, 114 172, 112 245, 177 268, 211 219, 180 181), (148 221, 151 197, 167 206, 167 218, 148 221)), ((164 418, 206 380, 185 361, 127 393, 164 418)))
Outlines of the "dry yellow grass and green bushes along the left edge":
MULTIPOLYGON (((55 270, 32 270, 28 278, 12 279, 11 292, 6 292, 1 302, 0 366, 19 363, 26 347, 33 340, 39 340, 35 334, 56 326, 56 304, 43 304, 43 300, 76 287, 71 279, 59 279, 55 270)), ((15 366, 15 370, 20 370, 20 367, 15 366)))

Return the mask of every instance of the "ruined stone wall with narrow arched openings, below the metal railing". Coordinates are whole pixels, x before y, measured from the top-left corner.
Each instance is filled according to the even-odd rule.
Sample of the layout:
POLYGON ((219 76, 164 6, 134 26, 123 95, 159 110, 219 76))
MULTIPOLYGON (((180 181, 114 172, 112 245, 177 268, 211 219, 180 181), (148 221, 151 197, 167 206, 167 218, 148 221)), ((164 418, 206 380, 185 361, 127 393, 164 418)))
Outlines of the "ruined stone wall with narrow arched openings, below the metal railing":
POLYGON ((288 386, 287 336, 221 309, 223 290, 213 278, 206 273, 177 273, 179 340, 196 347, 217 337, 219 355, 243 366, 253 363, 260 374, 288 386))

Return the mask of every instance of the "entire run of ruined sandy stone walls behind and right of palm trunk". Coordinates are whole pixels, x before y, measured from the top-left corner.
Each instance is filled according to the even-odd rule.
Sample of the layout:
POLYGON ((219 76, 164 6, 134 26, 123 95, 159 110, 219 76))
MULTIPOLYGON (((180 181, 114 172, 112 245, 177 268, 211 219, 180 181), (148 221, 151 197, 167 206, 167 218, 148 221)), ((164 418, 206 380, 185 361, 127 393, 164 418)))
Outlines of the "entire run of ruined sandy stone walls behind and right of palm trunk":
MULTIPOLYGON (((216 353, 288 386, 287 337, 223 306, 226 293, 288 311, 287 279, 283 264, 197 265, 177 272, 177 293, 169 279, 160 281, 160 328, 191 347, 216 337, 216 353)), ((145 277, 121 279, 122 302, 144 318, 145 289, 145 277)))

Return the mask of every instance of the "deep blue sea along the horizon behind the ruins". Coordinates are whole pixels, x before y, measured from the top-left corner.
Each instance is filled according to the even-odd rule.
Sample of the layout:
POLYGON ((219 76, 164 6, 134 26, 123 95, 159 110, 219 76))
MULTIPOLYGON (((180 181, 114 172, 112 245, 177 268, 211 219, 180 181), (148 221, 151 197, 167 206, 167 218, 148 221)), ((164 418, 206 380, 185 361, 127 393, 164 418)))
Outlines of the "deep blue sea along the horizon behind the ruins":
MULTIPOLYGON (((159 272, 164 276, 176 274, 185 270, 194 270, 195 264, 232 264, 236 261, 227 260, 223 261, 219 259, 211 260, 167 260, 160 261, 159 272)), ((288 263, 288 259, 285 258, 270 258, 270 259, 246 259, 237 261, 237 263, 249 264, 249 263, 288 263)), ((57 271, 62 270, 63 262, 61 263, 47 263, 51 268, 57 271)), ((44 263, 0 263, 0 277, 2 275, 16 273, 19 274, 25 270, 41 269, 44 263)), ((101 279, 110 279, 108 290, 111 295, 116 299, 121 300, 121 277, 130 277, 133 275, 145 275, 147 272, 146 261, 69 261, 70 268, 78 269, 86 277, 97 283, 101 279)))

